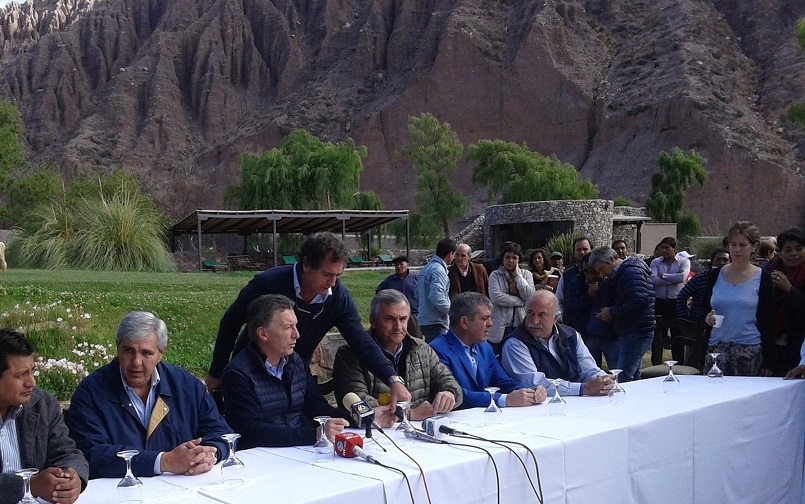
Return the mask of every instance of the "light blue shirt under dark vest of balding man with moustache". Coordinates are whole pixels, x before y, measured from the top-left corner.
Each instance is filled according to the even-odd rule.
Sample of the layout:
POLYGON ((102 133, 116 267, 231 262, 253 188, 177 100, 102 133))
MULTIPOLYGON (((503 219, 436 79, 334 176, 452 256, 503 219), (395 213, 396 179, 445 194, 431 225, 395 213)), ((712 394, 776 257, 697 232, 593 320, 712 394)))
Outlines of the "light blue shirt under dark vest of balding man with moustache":
MULTIPOLYGON (((561 361, 559 353, 556 350, 558 340, 559 331, 557 331, 556 326, 554 325, 553 334, 551 334, 547 347, 548 351, 551 352, 551 355, 557 361, 561 361)), ((545 340, 540 338, 539 342, 545 345, 545 340)), ((596 365, 595 359, 593 359, 590 351, 587 350, 587 347, 581 340, 581 335, 579 335, 578 331, 576 332, 576 358, 579 361, 581 381, 567 382, 566 384, 560 385, 560 394, 583 395, 584 383, 592 380, 596 376, 606 374, 596 365)), ((545 373, 537 369, 537 366, 534 364, 534 360, 531 358, 531 352, 528 351, 528 347, 525 345, 525 343, 517 338, 509 338, 506 340, 506 343, 503 346, 503 351, 501 352, 501 364, 503 364, 503 368, 507 373, 509 373, 509 376, 515 380, 532 387, 542 385, 548 390, 548 395, 554 394, 554 387, 551 382, 548 381, 548 377, 545 376, 545 373)), ((560 377, 557 376, 552 378, 560 377)))

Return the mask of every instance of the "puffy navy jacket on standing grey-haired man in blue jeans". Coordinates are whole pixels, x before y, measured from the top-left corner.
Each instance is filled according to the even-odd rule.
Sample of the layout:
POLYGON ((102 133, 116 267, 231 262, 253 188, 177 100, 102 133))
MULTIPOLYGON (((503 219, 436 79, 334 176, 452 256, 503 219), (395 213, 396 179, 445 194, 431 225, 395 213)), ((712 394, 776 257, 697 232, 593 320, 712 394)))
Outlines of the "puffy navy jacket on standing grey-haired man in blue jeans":
POLYGON ((609 308, 618 335, 654 330, 654 286, 645 261, 627 257, 615 272, 615 304, 609 308))

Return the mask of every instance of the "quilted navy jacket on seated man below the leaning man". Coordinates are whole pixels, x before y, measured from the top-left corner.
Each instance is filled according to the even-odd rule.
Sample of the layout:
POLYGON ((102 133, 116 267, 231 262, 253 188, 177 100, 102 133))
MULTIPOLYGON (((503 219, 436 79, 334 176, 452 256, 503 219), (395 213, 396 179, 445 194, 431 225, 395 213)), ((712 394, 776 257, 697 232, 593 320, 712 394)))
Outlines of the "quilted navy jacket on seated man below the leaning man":
POLYGON ((321 396, 307 365, 293 353, 282 380, 269 374, 254 344, 224 369, 221 388, 226 418, 241 435, 240 448, 301 446, 316 442, 315 416, 346 418, 321 396))

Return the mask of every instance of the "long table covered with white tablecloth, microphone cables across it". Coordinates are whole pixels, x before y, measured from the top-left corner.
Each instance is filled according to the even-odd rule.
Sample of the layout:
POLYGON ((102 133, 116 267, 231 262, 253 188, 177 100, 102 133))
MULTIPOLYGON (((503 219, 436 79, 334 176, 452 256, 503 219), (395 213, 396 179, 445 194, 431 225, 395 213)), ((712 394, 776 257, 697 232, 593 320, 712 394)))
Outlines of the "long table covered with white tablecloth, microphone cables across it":
MULTIPOLYGON (((678 394, 664 394, 661 378, 624 385, 626 400, 567 397, 565 414, 547 403, 507 408, 503 422, 485 425, 483 411, 448 415, 451 426, 481 437, 525 444, 539 463, 546 503, 800 503, 805 467, 805 381, 680 376, 678 394)), ((365 440, 368 453, 405 472, 414 502, 537 502, 525 475, 536 480, 524 448, 518 457, 500 446, 443 446, 408 440, 385 429, 365 440), (495 471, 497 467, 497 471, 495 471), (497 479, 499 478, 499 483, 497 479), (427 484, 427 491, 425 484, 427 484)), ((143 478, 147 503, 252 502, 410 503, 403 477, 360 459, 317 463, 310 448, 237 452, 246 483, 221 482, 219 468, 198 476, 143 478)), ((91 480, 80 504, 115 502, 117 480, 91 480)), ((535 485, 536 486, 536 485, 535 485)))

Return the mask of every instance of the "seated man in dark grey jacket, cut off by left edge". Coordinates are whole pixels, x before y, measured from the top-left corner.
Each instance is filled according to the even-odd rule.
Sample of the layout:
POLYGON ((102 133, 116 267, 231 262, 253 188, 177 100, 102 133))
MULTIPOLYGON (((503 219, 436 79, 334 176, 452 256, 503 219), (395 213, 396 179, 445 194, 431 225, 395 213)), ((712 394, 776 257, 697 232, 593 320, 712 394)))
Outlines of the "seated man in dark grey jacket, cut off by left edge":
POLYGON ((0 504, 22 499, 15 471, 33 467, 31 493, 49 502, 72 503, 87 486, 87 461, 67 435, 61 406, 36 388, 36 345, 24 334, 0 330, 0 504))

